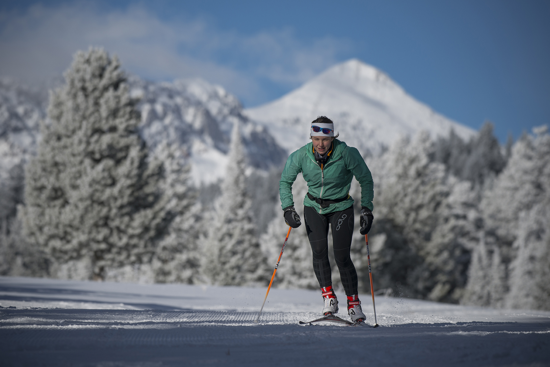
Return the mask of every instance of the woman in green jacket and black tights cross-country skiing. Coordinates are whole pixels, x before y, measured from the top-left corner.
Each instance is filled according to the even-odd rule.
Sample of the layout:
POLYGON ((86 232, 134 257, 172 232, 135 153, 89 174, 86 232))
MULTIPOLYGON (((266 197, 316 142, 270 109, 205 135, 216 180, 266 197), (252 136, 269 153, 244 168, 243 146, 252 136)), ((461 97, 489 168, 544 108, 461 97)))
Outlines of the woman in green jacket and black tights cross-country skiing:
POLYGON ((328 226, 332 228, 334 259, 348 297, 348 314, 353 322, 365 321, 357 295, 357 272, 350 258, 354 227, 353 198, 349 188, 353 176, 361 184, 361 234, 371 228, 373 183, 371 172, 354 147, 335 139, 331 119, 321 116, 313 120, 311 143, 288 157, 279 182, 284 219, 292 228, 300 226, 294 210, 292 184, 298 173, 307 182, 304 198, 304 217, 307 237, 313 252, 313 271, 319 281, 324 299, 323 315, 338 312, 338 300, 332 289, 331 265, 328 262, 328 226))

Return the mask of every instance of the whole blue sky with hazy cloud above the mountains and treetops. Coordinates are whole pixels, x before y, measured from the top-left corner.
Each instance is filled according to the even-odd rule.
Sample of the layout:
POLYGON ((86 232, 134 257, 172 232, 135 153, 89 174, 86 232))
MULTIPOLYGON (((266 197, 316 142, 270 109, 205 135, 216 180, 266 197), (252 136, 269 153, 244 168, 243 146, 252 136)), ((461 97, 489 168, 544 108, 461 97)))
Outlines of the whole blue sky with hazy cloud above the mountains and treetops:
POLYGON ((547 1, 95 1, 0 4, 0 74, 49 78, 89 45, 153 80, 200 76, 246 107, 356 57, 501 141, 550 124, 547 1))

